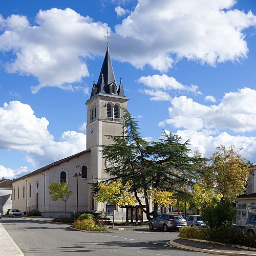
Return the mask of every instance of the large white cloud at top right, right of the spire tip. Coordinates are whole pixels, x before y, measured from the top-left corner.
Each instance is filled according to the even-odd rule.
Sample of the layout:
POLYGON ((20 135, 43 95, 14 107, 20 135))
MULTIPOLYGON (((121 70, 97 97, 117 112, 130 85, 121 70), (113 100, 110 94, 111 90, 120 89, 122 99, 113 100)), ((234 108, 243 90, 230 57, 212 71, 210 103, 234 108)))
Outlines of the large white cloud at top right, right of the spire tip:
MULTIPOLYGON (((251 13, 231 10, 233 0, 139 0, 134 11, 115 26, 114 44, 129 53, 120 57, 141 68, 161 72, 185 57, 215 66, 247 56, 243 30, 255 26, 251 13), (130 47, 129 47, 130 46, 130 47), (150 54, 149 54, 150 53, 150 54)), ((119 53, 120 54, 120 53, 119 53)))

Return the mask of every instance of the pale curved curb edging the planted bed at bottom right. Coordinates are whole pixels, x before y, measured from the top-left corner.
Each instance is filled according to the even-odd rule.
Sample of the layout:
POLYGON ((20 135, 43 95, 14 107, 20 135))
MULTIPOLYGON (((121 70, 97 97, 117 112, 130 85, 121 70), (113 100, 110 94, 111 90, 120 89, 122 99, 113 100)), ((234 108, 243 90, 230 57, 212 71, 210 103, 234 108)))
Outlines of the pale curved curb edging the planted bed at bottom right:
POLYGON ((246 254, 246 253, 236 253, 236 252, 228 252, 228 251, 214 251, 214 250, 201 249, 201 248, 197 248, 197 247, 178 244, 174 241, 169 241, 169 242, 167 242, 167 244, 172 245, 177 248, 189 250, 189 251, 197 251, 197 252, 204 252, 204 253, 210 253, 210 254, 227 255, 227 256, 244 256, 244 255, 245 256, 253 256, 253 255, 256 256, 256 254, 251 254, 251 253, 246 254))

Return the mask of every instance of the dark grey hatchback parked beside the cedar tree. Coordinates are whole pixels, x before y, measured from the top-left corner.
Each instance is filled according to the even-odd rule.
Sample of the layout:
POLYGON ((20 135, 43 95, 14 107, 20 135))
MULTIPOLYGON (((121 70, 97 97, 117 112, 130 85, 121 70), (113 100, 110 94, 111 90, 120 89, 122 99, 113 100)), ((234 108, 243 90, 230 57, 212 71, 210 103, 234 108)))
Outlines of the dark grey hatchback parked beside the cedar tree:
POLYGON ((158 215, 156 219, 150 221, 150 230, 153 229, 163 229, 168 231, 169 229, 179 229, 181 227, 186 227, 187 221, 180 215, 172 214, 161 214, 158 215))

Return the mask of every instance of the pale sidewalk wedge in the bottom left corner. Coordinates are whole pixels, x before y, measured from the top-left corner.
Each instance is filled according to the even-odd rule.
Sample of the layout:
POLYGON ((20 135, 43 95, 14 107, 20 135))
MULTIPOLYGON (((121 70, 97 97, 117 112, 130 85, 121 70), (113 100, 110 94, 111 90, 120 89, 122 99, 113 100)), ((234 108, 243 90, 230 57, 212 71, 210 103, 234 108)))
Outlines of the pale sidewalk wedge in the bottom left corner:
POLYGON ((8 232, 0 222, 0 255, 20 256, 23 252, 14 243, 8 232))

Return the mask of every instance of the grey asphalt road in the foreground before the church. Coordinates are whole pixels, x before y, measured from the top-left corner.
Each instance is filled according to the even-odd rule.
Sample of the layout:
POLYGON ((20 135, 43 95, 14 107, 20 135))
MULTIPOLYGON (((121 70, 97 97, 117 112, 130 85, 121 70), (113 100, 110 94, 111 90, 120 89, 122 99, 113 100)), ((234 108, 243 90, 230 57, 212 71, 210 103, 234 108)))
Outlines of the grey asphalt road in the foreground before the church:
POLYGON ((147 227, 104 233, 22 218, 3 218, 1 223, 26 256, 208 255, 168 246, 166 242, 177 238, 178 232, 150 231, 147 227))

